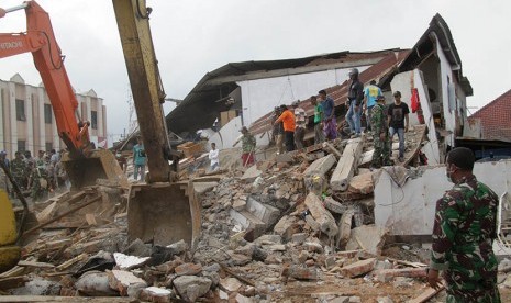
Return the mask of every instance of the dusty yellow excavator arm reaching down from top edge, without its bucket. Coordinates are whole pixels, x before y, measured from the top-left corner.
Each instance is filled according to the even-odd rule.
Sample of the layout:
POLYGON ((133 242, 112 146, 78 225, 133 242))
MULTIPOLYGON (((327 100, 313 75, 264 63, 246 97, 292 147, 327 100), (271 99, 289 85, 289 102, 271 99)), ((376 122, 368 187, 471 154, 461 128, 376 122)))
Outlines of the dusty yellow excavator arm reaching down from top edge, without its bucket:
POLYGON ((113 0, 151 182, 168 182, 169 143, 158 65, 145 0, 113 0))

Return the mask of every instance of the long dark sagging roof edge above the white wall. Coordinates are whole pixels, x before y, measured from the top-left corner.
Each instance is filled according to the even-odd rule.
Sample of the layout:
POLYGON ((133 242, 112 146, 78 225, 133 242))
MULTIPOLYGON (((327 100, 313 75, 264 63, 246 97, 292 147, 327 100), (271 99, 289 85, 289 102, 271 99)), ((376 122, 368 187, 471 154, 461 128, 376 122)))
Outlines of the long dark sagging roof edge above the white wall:
POLYGON ((397 49, 366 53, 345 50, 304 58, 226 64, 205 74, 184 102, 166 116, 167 128, 179 134, 211 127, 219 112, 230 109, 231 104, 220 101, 238 87, 236 81, 371 65, 395 50, 397 49))

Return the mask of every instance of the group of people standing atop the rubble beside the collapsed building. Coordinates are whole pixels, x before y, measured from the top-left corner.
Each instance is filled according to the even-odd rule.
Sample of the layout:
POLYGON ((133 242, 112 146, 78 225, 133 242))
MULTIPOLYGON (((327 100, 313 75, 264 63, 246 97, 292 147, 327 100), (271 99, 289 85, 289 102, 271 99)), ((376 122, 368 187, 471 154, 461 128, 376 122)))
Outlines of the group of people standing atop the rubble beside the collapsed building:
MULTIPOLYGON (((395 102, 387 105, 381 89, 376 81, 364 88, 358 79, 358 69, 349 71, 349 86, 345 108, 347 113, 345 122, 337 125, 334 100, 327 96, 325 90, 320 90, 318 96, 310 98, 314 108, 314 144, 331 141, 341 136, 359 137, 362 134, 362 116, 365 114, 366 131, 371 131, 375 153, 371 168, 391 165, 391 142, 395 135, 399 137, 400 162, 404 161, 404 133, 409 127, 410 110, 407 103, 401 102, 401 92, 395 91, 395 102), (347 124, 347 125, 346 125, 347 124)), ((292 102, 291 106, 280 105, 274 109, 271 143, 277 146, 277 154, 302 149, 308 125, 306 110, 300 106, 299 101, 292 102)), ((242 137, 233 147, 242 142, 242 164, 251 166, 254 164, 255 137, 246 127, 241 130, 242 137)), ((213 148, 214 150, 214 148, 213 148)), ((215 152, 213 152, 214 154, 215 152)), ((211 156, 210 156, 211 159, 211 156)))

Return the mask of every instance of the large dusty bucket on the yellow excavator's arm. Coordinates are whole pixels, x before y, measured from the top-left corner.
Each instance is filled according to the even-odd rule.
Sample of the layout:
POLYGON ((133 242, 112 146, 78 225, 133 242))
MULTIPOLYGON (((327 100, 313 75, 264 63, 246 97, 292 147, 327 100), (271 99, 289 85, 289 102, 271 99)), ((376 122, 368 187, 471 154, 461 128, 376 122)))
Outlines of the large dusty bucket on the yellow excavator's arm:
POLYGON ((167 246, 184 239, 193 248, 201 228, 192 182, 133 184, 127 200, 127 237, 167 246))

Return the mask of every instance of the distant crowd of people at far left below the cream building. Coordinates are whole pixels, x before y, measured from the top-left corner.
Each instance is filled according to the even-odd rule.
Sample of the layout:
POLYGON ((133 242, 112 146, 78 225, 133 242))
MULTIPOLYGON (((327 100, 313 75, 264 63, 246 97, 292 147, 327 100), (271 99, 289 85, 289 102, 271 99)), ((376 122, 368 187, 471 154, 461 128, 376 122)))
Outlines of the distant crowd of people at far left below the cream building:
MULTIPOLYGON (((10 171, 14 182, 22 193, 30 193, 33 201, 43 199, 48 192, 59 187, 69 188, 70 183, 62 164, 65 150, 49 153, 38 150, 37 157, 32 157, 30 150, 15 152, 14 158, 9 159, 7 152, 0 152, 0 161, 10 171)), ((3 169, 0 170, 1 187, 11 197, 15 198, 14 190, 3 169)))

